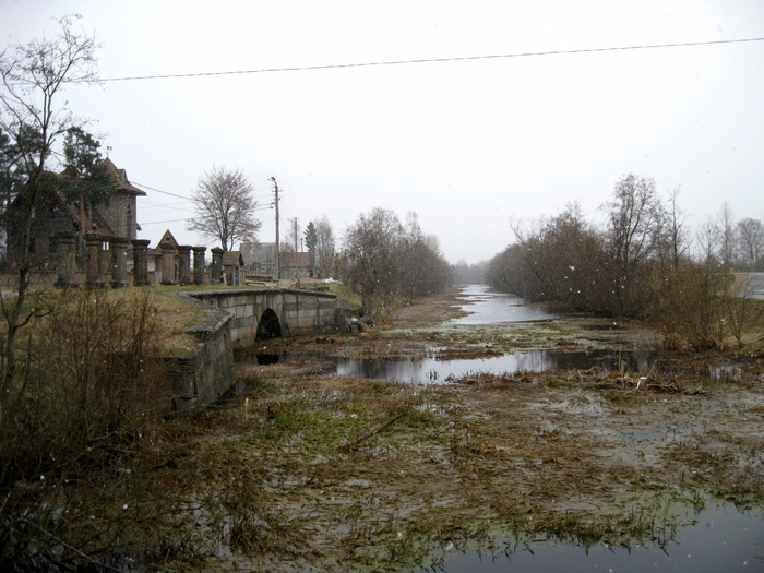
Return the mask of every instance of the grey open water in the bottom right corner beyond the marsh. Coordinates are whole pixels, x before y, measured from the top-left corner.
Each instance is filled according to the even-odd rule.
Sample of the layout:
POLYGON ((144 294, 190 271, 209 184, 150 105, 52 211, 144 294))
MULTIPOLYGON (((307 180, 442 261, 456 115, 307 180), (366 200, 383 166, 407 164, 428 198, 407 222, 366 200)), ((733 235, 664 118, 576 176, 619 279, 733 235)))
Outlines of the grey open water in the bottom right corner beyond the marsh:
POLYGON ((493 551, 446 552, 442 566, 419 571, 716 573, 764 570, 762 510, 741 512, 732 505, 709 501, 708 509, 697 514, 690 508, 684 510, 680 522, 692 525, 678 527, 668 542, 664 539, 662 542, 653 541, 631 549, 607 545, 585 549, 570 544, 539 540, 527 546, 506 545, 494 548, 493 551))

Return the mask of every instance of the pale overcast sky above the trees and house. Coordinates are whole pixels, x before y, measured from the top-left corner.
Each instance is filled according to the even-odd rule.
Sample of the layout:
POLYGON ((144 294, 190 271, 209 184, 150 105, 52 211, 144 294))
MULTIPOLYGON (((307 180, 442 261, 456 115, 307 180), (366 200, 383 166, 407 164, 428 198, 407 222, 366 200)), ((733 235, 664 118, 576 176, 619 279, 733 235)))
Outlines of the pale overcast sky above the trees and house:
MULTIPOLYGON (((81 14, 104 79, 457 59, 764 37, 751 1, 0 0, 0 41, 81 14)), ((335 234, 374 206, 414 211, 451 262, 489 259, 510 216, 597 207, 654 177, 699 224, 728 201, 764 216, 764 41, 107 81, 73 110, 144 186, 142 238, 181 243, 213 164, 241 168, 282 218, 335 234)), ((259 212, 273 240, 273 210, 259 212)), ((284 235, 284 231, 282 231, 284 235)))

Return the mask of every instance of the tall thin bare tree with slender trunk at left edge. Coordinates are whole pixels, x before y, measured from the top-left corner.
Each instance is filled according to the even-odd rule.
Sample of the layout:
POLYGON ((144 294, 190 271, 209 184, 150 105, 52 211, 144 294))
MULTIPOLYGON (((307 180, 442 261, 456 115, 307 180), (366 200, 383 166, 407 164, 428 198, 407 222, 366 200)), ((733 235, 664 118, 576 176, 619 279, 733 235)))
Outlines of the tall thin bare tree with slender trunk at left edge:
MULTIPOLYGON (((26 184, 25 210, 20 222, 21 249, 15 262, 17 271, 16 297, 2 301, 8 323, 5 359, 0 405, 11 399, 16 370, 15 343, 19 330, 29 320, 25 302, 29 276, 35 261, 29 253, 32 218, 38 193, 48 176, 47 166, 57 140, 71 127, 81 126, 60 100, 69 83, 97 82, 93 36, 77 32, 71 17, 59 21, 59 33, 51 39, 33 39, 26 45, 11 45, 0 53, 0 131, 13 140, 26 184)), ((28 309, 27 309, 28 310, 28 309)))

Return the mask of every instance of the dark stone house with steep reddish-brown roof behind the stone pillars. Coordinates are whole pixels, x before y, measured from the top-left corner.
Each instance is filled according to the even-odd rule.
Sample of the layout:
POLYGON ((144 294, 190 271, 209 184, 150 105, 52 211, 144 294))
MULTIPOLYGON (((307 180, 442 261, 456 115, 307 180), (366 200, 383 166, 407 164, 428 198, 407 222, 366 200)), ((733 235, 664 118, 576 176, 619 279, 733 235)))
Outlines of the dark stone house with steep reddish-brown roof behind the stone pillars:
MULTIPOLYGON (((37 198, 32 216, 32 236, 29 253, 45 259, 56 253, 56 232, 74 231, 77 234, 77 249, 83 249, 83 230, 95 230, 105 237, 124 237, 135 239, 138 230, 138 198, 146 192, 133 186, 124 169, 118 168, 108 157, 104 159, 108 172, 114 177, 117 189, 107 203, 83 205, 84 225, 81 229, 80 202, 68 202, 58 189, 43 192, 37 198)), ((9 254, 17 251, 21 242, 19 216, 26 208, 26 198, 19 195, 9 206, 8 248, 9 254)))

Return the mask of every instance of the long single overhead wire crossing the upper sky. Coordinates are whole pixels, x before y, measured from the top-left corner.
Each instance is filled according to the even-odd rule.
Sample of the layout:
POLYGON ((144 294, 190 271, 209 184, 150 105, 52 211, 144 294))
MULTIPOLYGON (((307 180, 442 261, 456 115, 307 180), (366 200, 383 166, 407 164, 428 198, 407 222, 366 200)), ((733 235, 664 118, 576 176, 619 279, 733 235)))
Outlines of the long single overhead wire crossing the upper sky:
MULTIPOLYGON (((625 51, 625 50, 649 50, 658 48, 684 48, 690 46, 715 46, 719 44, 742 44, 747 41, 764 41, 761 38, 741 38, 741 39, 717 39, 706 41, 684 41, 680 44, 648 44, 643 46, 611 46, 608 48, 581 48, 575 50, 550 50, 550 51, 528 51, 517 53, 496 53, 489 56, 462 56, 453 58, 422 58, 417 60, 392 60, 380 62, 361 62, 361 63, 333 63, 324 65, 297 65, 293 68, 263 68, 259 70, 237 70, 227 72, 198 72, 198 73, 172 73, 162 75, 132 75, 123 77, 105 77, 103 82, 128 82, 133 80, 169 80, 175 77, 203 77, 212 75, 244 75, 251 73, 273 73, 273 72, 301 72, 308 70, 339 70, 346 68, 371 68, 375 65, 403 65, 411 63, 440 63, 470 60, 496 60, 504 58, 529 58, 535 56, 561 56, 565 53, 595 53, 600 51, 625 51)), ((72 82, 76 83, 76 82, 72 82)), ((151 188, 148 188, 151 189, 151 188)), ((156 191, 156 190, 154 190, 156 191)), ((168 193, 171 194, 171 193, 168 193)), ((179 196, 179 195, 176 195, 179 196)))

